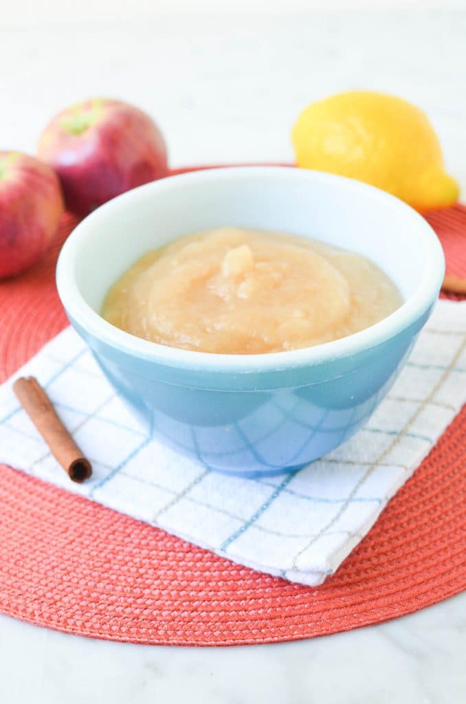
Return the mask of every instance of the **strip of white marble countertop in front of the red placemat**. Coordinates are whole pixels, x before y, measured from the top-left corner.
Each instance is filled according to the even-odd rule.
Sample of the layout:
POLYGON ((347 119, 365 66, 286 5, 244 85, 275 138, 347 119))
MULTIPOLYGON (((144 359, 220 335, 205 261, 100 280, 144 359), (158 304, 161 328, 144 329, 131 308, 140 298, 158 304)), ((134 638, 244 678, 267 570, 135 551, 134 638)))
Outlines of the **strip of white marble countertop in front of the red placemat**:
POLYGON ((464 704, 466 594, 348 633, 234 648, 132 646, 0 617, 5 704, 464 704))

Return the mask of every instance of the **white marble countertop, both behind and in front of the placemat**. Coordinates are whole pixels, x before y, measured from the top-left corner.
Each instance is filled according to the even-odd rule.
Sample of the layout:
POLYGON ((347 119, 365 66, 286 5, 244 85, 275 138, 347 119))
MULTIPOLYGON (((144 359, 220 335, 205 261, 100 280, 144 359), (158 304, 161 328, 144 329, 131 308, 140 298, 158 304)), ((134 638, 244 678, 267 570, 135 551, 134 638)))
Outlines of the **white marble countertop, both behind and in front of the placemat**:
MULTIPOLYGON (((466 189, 465 10, 143 21, 136 6, 132 19, 103 22, 63 20, 63 10, 53 20, 53 1, 46 22, 2 13, 2 149, 33 151, 59 108, 108 95, 156 117, 172 165, 289 161, 289 130, 306 103, 365 87, 427 111, 466 189)), ((465 594, 346 634, 237 648, 93 641, 0 617, 1 701, 460 704, 465 629, 465 594)))

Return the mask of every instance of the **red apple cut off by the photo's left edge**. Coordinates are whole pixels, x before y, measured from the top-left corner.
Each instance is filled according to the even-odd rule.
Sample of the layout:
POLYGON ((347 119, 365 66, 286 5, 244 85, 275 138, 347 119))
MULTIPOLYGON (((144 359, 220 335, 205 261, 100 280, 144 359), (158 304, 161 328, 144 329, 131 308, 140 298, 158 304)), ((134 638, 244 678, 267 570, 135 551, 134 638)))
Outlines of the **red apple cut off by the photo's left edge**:
POLYGON ((60 182, 49 166, 18 151, 0 151, 0 279, 42 256, 63 209, 60 182))

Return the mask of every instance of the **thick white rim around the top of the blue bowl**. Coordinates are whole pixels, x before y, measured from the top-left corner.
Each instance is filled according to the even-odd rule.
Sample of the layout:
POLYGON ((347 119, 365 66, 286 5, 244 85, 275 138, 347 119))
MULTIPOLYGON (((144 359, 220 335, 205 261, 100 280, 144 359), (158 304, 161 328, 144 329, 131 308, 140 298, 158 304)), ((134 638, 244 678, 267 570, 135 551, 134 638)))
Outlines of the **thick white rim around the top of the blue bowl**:
POLYGON ((296 367, 304 367, 315 364, 322 364, 330 360, 352 356, 361 351, 367 350, 382 344, 384 341, 395 336, 403 329, 409 327, 415 320, 420 318, 432 306, 436 295, 441 287, 444 273, 443 250, 434 230, 427 220, 410 208, 406 203, 395 196, 372 187, 363 182, 348 179, 343 176, 304 170, 289 166, 225 166, 215 168, 203 168, 201 170, 182 173, 160 179, 149 184, 144 184, 131 191, 127 191, 121 196, 108 201, 93 213, 84 218, 75 230, 70 234, 61 249, 56 269, 56 284, 58 294, 63 306, 73 320, 77 322, 89 334, 99 339, 105 344, 136 356, 142 360, 153 361, 171 367, 182 367, 187 370, 204 370, 217 372, 270 372, 278 370, 288 370, 296 367), (367 327, 360 332, 348 335, 331 342, 326 342, 314 347, 304 347, 296 350, 270 352, 261 354, 222 354, 211 352, 200 352, 185 350, 176 347, 169 347, 149 340, 144 340, 134 335, 120 330, 111 325, 95 312, 84 301, 75 280, 73 263, 75 254, 86 236, 89 222, 94 222, 98 218, 106 219, 111 217, 112 210, 123 201, 134 201, 144 199, 146 194, 163 194, 166 189, 176 188, 178 185, 195 181, 208 181, 215 179, 228 179, 232 173, 237 177, 247 177, 251 172, 256 172, 262 178, 273 179, 309 177, 310 180, 329 182, 355 191, 364 191, 367 198, 381 203, 389 203, 393 208, 403 210, 409 220, 424 230, 424 252, 426 254, 426 265, 422 272, 420 284, 411 294, 405 303, 387 318, 377 322, 371 327, 367 327))

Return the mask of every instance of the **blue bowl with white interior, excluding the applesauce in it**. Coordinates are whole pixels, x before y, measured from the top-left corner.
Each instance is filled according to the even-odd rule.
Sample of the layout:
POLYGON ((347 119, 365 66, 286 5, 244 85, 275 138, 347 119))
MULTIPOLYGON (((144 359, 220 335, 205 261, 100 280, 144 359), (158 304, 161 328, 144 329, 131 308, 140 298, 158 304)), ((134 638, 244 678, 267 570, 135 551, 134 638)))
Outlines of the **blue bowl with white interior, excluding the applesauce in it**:
POLYGON ((429 318, 443 270, 432 229, 392 196, 320 172, 247 167, 171 177, 106 203, 63 246, 57 285, 71 324, 153 436, 213 470, 259 476, 312 462, 365 423, 429 318), (405 303, 344 339, 259 355, 162 346, 99 316, 108 288, 141 254, 222 225, 363 253, 405 303))

